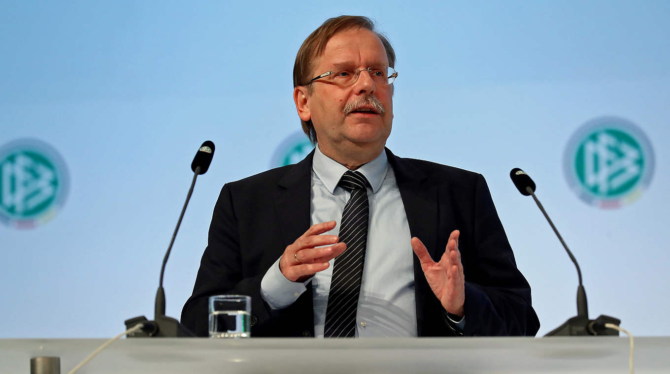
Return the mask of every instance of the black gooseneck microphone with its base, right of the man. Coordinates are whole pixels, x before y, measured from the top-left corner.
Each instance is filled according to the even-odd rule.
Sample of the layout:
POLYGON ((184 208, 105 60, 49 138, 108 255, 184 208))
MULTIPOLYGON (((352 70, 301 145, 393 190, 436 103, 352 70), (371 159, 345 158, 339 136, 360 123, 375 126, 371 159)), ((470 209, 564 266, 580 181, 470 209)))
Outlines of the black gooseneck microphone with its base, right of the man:
POLYGON ((570 260, 575 264, 577 268, 577 276, 579 279, 579 286, 577 287, 577 315, 569 318, 561 326, 557 327, 553 331, 550 331, 545 335, 545 337, 558 336, 558 335, 618 335, 618 331, 613 331, 611 329, 606 329, 604 326, 605 323, 618 324, 621 323, 621 320, 617 318, 601 315, 596 320, 588 319, 588 303, 586 302, 586 290, 584 290, 584 285, 582 284, 582 270, 580 270, 580 265, 577 263, 575 256, 572 255, 572 252, 567 248, 567 244, 561 237, 561 234, 556 229, 556 226, 553 225, 553 222, 549 218, 547 211, 540 203, 540 201, 535 196, 535 182, 533 179, 523 170, 515 167, 509 172, 509 177, 512 179, 512 182, 517 187, 521 195, 533 196, 537 207, 542 211, 542 214, 551 225, 551 229, 558 237, 558 240, 563 244, 567 256, 570 257, 570 260))

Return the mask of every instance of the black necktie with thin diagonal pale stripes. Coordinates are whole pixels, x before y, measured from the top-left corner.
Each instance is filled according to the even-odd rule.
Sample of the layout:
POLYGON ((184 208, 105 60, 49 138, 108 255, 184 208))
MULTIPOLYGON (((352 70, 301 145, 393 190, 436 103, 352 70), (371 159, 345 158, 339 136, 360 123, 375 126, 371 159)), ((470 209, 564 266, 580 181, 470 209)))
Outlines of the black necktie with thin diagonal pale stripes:
POLYGON ((340 221, 340 242, 346 250, 335 258, 330 280, 324 337, 352 338, 356 331, 356 306, 368 243, 370 203, 368 180, 358 171, 346 171, 338 186, 351 193, 340 221))

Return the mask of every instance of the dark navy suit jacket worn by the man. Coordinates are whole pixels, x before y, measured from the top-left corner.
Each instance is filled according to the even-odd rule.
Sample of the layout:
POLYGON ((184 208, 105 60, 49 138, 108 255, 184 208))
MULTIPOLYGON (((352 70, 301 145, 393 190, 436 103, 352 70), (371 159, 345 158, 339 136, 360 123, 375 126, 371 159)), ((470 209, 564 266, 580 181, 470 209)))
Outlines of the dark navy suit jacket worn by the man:
MULTIPOLYGON (((534 336, 539 320, 531 289, 517 269, 484 177, 385 151, 411 236, 421 239, 434 260, 444 254, 450 233, 460 230, 466 280, 462 335, 534 336)), ((196 335, 208 335, 208 296, 244 294, 252 298, 254 337, 314 336, 311 284, 282 310, 271 310, 260 293, 265 272, 310 227, 313 156, 223 186, 193 294, 182 310, 182 324, 196 335)), ((444 318, 416 256, 414 277, 419 337, 460 335, 444 318)))

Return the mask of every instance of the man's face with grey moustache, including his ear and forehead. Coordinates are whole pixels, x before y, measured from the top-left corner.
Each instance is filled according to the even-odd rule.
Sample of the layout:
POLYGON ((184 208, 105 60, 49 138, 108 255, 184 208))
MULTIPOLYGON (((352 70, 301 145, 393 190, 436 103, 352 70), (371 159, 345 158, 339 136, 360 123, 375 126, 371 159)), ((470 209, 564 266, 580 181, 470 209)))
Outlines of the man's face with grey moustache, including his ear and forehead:
MULTIPOLYGON (((334 35, 326 44, 324 54, 312 63, 312 75, 318 76, 342 68, 366 69, 371 66, 388 66, 389 60, 381 40, 368 29, 349 29, 334 35)), ((299 88, 295 94, 299 96, 299 88)), ((301 111, 296 98, 298 113, 302 120, 312 120, 320 149, 328 154, 337 154, 350 149, 376 150, 379 152, 391 134, 393 122, 393 100, 391 86, 375 84, 369 72, 362 71, 351 86, 340 86, 326 78, 312 82, 312 92, 306 88, 304 110, 301 111), (381 112, 364 98, 376 98, 384 110, 381 112), (358 104, 356 104, 358 103, 358 104), (354 106, 352 107, 352 104, 354 106), (345 112, 348 105, 348 111, 345 112), (373 109, 371 112, 371 109, 373 109)))

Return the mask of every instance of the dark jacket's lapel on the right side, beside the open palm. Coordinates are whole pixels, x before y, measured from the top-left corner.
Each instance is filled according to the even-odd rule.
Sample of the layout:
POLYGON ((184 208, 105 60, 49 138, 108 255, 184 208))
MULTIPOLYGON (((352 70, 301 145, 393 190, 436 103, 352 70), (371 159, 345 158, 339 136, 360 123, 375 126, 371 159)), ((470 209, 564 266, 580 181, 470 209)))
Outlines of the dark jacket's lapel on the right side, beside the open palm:
MULTIPOLYGON (((439 259, 439 257, 436 257, 439 235, 437 228, 440 227, 437 224, 439 223, 438 187, 430 183, 429 177, 423 171, 396 157, 389 149, 386 149, 386 152, 403 199, 409 232, 412 237, 419 238, 425 244, 433 260, 439 259)), ((413 258, 417 333, 421 336, 424 335, 423 320, 426 298, 427 296, 434 298, 434 296, 425 280, 419 259, 417 256, 413 256, 413 258)))

